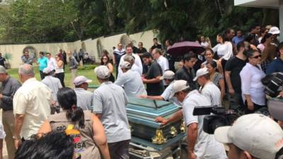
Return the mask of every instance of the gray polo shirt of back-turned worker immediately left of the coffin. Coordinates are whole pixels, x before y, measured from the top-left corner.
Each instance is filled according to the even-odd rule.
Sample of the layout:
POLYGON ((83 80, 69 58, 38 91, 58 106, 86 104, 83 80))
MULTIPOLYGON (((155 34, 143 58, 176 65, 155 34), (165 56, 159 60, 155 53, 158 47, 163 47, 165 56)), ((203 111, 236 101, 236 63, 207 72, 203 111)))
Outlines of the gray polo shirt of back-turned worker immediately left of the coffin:
POLYGON ((127 96, 122 87, 104 82, 93 92, 93 112, 101 113, 108 143, 131 139, 126 115, 127 96))

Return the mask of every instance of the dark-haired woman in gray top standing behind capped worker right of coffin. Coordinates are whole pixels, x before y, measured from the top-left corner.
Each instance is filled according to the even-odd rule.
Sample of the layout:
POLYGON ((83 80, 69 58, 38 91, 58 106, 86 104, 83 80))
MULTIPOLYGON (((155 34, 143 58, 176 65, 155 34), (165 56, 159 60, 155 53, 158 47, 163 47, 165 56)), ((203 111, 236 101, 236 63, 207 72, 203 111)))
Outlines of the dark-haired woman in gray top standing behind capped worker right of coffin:
POLYGON ((212 60, 207 63, 207 70, 209 72, 209 79, 216 85, 221 92, 221 101, 223 102, 225 96, 225 82, 223 74, 217 71, 217 63, 212 60))

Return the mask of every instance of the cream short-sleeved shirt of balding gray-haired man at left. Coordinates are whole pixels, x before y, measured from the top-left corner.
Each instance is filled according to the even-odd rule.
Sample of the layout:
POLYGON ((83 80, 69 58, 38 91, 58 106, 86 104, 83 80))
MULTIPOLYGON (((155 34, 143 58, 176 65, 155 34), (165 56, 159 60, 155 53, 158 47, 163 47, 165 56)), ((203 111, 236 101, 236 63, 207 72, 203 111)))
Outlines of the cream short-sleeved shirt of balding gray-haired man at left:
POLYGON ((24 139, 37 134, 50 115, 51 103, 52 91, 35 78, 28 79, 18 88, 13 97, 13 114, 25 114, 21 129, 24 139))

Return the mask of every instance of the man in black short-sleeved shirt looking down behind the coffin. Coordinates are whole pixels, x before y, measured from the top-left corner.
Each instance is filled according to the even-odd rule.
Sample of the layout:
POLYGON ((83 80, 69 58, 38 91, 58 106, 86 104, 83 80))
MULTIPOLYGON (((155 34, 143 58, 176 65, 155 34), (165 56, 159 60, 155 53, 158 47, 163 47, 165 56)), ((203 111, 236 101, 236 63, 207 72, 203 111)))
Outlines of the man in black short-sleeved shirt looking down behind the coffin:
POLYGON ((142 81, 146 83, 147 95, 161 95, 164 90, 163 81, 160 80, 163 75, 161 66, 152 59, 149 52, 142 55, 142 61, 149 66, 146 76, 142 77, 142 81))

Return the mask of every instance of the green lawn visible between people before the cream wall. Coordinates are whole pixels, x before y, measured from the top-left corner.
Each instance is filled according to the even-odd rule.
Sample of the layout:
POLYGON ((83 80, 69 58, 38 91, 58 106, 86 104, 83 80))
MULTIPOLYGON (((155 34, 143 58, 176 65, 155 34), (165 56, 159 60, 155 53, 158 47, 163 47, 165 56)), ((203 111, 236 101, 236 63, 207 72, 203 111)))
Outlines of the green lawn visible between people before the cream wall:
MULTIPOLYGON (((89 65, 83 65, 83 66, 89 66, 89 65)), ((40 72, 38 70, 38 67, 34 66, 34 69, 35 69, 35 78, 37 78, 37 80, 40 81, 40 72)), ((13 78, 18 79, 18 69, 8 69, 8 74, 13 78)), ((83 69, 83 70, 78 69, 78 76, 86 76, 86 78, 91 79, 92 82, 89 83, 90 85, 99 84, 93 69, 83 69)), ((74 85, 71 83, 71 72, 69 71, 69 69, 65 69, 64 82, 67 87, 74 87, 74 85)))

